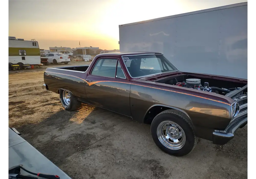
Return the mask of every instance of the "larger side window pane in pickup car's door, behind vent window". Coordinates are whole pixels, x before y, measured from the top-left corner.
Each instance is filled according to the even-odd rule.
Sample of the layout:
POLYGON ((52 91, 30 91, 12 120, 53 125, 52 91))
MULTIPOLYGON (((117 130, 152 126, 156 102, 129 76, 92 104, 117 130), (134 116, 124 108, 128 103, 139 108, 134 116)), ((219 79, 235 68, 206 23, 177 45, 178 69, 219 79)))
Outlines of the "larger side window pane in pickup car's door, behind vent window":
POLYGON ((99 59, 92 69, 92 75, 115 78, 117 59, 99 59))

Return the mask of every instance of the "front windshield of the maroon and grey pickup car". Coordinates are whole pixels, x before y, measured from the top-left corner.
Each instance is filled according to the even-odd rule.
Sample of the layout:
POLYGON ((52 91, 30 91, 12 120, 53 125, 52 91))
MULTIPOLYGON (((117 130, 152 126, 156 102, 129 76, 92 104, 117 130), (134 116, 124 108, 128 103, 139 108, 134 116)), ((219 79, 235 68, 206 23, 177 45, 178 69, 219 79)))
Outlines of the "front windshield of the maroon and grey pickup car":
POLYGON ((123 59, 132 78, 177 70, 163 55, 128 56, 123 59))

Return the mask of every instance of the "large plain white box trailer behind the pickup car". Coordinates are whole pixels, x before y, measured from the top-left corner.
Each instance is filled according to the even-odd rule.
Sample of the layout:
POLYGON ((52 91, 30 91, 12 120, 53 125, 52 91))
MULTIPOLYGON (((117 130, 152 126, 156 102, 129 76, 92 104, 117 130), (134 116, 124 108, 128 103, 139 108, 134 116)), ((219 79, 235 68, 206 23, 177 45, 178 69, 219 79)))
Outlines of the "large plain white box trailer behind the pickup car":
POLYGON ((119 44, 163 53, 180 71, 248 79, 248 2, 119 25, 119 44))

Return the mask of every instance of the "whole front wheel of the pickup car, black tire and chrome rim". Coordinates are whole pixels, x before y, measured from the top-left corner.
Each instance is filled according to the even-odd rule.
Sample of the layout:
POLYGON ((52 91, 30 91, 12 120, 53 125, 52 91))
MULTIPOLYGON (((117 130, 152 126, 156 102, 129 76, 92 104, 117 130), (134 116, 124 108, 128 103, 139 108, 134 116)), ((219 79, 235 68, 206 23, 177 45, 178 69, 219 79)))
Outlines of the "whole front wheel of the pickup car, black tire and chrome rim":
POLYGON ((188 117, 173 109, 163 111, 154 118, 151 135, 162 151, 174 156, 189 154, 197 144, 188 117))

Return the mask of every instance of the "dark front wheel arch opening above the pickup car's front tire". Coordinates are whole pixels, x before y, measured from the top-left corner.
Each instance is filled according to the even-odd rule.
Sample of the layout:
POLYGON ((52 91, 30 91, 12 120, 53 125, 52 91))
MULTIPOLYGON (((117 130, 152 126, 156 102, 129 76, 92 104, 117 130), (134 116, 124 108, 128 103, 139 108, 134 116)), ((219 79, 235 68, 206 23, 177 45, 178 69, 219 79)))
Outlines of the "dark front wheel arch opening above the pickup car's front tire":
POLYGON ((145 113, 144 118, 143 118, 143 123, 145 124, 151 124, 151 122, 153 121, 153 119, 156 117, 157 114, 168 110, 168 109, 174 109, 177 110, 178 112, 182 113, 183 115, 185 115, 188 120, 192 123, 192 120, 190 119, 188 113, 186 113, 184 110, 179 109, 177 107, 173 107, 173 106, 168 106, 168 105, 152 105, 150 108, 148 108, 148 111, 145 113))

